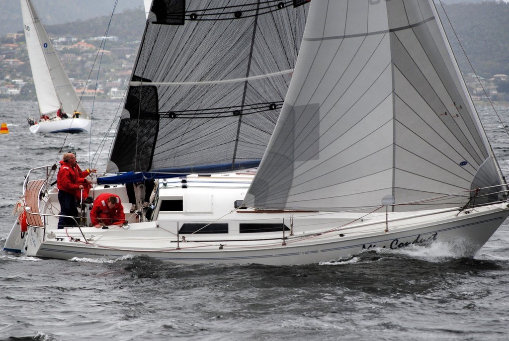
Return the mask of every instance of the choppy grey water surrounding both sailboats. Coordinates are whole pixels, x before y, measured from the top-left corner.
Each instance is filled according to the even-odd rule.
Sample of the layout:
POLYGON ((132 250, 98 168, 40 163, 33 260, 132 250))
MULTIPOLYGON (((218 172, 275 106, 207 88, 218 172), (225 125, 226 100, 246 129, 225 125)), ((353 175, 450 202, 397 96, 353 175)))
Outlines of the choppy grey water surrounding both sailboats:
MULTIPOLYGON (((10 129, 0 135, 0 247, 29 168, 60 158, 63 145, 82 166, 93 159, 104 169, 105 153, 93 153, 117 106, 96 104, 92 137, 63 144, 65 135, 29 132, 35 103, 0 103, 10 129)), ((509 110, 499 113, 509 122, 509 110)), ((509 138, 492 117, 486 129, 509 168, 509 138)), ((508 242, 504 223, 474 259, 435 244, 309 266, 60 261, 0 251, 0 339, 506 341, 508 242)))

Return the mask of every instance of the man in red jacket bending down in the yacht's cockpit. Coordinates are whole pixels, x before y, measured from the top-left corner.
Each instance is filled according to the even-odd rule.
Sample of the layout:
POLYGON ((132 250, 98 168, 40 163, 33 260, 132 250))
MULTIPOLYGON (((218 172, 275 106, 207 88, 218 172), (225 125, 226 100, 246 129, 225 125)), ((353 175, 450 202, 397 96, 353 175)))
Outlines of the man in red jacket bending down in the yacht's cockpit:
POLYGON ((111 193, 99 194, 90 211, 90 220, 96 228, 102 225, 123 225, 126 219, 120 197, 111 193))

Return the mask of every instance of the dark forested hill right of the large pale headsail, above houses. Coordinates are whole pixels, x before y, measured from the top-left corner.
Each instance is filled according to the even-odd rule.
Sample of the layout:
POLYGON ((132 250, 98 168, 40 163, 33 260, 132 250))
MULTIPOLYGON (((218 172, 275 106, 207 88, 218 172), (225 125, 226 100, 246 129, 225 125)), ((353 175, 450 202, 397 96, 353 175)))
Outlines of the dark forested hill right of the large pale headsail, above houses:
MULTIPOLYGON (((443 8, 475 72, 483 77, 491 77, 497 73, 509 75, 509 4, 483 2, 450 4, 443 8)), ((468 72, 466 58, 454 32, 448 29, 447 18, 442 15, 439 3, 437 9, 462 71, 468 72)))

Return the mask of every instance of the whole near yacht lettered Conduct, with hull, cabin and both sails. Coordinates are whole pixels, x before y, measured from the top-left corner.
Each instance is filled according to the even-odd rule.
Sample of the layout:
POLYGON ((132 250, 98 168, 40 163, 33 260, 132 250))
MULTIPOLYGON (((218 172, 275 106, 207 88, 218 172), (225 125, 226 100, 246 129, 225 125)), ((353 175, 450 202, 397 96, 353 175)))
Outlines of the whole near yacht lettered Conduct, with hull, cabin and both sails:
POLYGON ((56 230, 57 191, 29 174, 27 232, 15 223, 6 250, 286 265, 441 242, 460 257, 475 255, 509 215, 507 185, 433 0, 244 3, 203 11, 190 1, 185 9, 152 4, 108 164, 122 176, 99 178, 95 195, 125 203, 115 181, 166 177, 153 210, 127 214, 123 228, 56 230), (298 32, 280 19, 308 6, 263 160, 256 175, 242 172, 265 149, 263 127, 289 77, 272 68, 286 70, 291 62, 277 58, 292 48, 275 53, 277 44, 263 43, 298 32), (235 24, 246 30, 227 29, 235 24), (201 41, 199 29, 207 32, 201 41), (247 58, 246 46, 223 48, 246 32, 247 58), (168 36, 174 49, 160 46, 168 36))

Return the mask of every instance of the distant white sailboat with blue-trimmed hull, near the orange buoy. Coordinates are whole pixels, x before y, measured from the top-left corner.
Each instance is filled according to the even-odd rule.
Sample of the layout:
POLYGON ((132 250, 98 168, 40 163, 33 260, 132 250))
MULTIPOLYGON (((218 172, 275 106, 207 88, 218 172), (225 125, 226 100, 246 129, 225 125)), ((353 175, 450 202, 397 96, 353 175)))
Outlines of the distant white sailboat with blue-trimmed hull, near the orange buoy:
POLYGON ((55 53, 32 1, 20 2, 26 48, 41 114, 40 118, 29 118, 30 131, 88 132, 90 118, 55 53))

